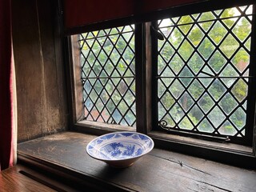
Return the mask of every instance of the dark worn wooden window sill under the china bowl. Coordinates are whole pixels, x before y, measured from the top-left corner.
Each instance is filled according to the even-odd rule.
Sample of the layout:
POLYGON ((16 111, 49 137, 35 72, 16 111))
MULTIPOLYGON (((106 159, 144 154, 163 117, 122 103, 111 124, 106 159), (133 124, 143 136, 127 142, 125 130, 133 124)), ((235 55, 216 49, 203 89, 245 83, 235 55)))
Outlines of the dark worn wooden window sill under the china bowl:
POLYGON ((114 169, 86 154, 86 144, 95 137, 63 132, 23 142, 18 144, 18 162, 66 178, 71 186, 102 191, 256 190, 255 170, 158 148, 133 166, 114 169))

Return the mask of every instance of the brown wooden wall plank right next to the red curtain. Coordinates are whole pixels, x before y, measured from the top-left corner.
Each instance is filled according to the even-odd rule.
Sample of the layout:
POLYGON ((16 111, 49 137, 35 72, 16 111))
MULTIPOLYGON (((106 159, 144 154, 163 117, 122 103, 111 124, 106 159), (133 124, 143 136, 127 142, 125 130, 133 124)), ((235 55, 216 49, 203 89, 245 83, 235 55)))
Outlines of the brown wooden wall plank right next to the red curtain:
POLYGON ((13 39, 17 82, 18 140, 42 134, 42 68, 36 1, 14 1, 13 39))

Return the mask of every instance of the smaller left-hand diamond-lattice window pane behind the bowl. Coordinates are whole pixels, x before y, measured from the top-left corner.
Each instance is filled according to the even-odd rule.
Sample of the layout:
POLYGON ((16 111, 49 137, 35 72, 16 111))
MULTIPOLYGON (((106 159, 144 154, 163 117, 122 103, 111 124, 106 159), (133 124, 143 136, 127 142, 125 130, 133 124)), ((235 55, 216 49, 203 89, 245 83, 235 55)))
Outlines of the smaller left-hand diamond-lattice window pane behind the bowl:
POLYGON ((134 26, 80 34, 85 119, 135 126, 134 26))

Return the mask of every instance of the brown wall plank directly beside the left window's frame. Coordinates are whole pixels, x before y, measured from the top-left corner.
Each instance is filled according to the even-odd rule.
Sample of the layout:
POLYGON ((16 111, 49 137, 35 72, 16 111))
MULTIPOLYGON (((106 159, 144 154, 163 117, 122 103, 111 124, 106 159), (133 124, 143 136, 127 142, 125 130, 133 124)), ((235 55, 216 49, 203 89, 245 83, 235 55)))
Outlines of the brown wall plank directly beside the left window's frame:
MULTIPOLYGON (((66 118, 66 95, 64 89, 64 69, 61 50, 58 45, 60 39, 54 36, 57 19, 57 1, 37 1, 38 26, 42 51, 42 95, 43 95, 43 133, 53 134, 57 130, 65 130, 66 118), (55 26, 54 26, 55 25, 55 26), (59 54, 59 55, 58 55, 59 54)), ((60 34, 58 34, 60 35, 60 34)))

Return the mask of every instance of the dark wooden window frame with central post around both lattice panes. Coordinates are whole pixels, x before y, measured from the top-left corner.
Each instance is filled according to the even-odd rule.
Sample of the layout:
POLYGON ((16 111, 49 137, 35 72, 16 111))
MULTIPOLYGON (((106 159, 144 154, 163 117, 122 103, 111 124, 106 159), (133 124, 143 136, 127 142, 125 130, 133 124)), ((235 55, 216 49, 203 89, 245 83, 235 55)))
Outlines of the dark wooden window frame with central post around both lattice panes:
MULTIPOLYGON (((196 6, 184 6, 171 8, 169 10, 162 10, 156 13, 155 18, 167 18, 181 16, 182 14, 194 14, 198 11, 208 11, 225 9, 231 6, 242 6, 246 4, 254 4, 254 1, 227 1, 225 5, 218 5, 218 2, 202 2, 201 7, 196 6)), ((256 17, 254 15, 254 17, 256 17)), ((135 26, 135 63, 136 63, 136 119, 137 130, 140 133, 148 134, 154 139, 155 146, 161 147, 167 150, 174 150, 179 153, 190 154, 199 158, 207 158, 217 162, 225 162, 234 166, 253 166, 256 162, 256 129, 254 128, 253 145, 251 147, 239 146, 235 144, 223 144, 221 142, 209 142, 196 138, 187 138, 174 134, 166 134, 159 131, 155 131, 152 127, 152 114, 151 114, 151 89, 152 89, 152 56, 151 55, 151 42, 150 38, 150 22, 136 24, 135 26), (246 162, 246 164, 245 164, 246 162)), ((110 22, 110 26, 114 26, 113 22, 110 22)), ((106 26, 105 26, 106 28, 106 26)), ((94 30, 94 28, 92 28, 94 30)), ((252 33, 256 35, 256 25, 253 26, 252 33)), ((66 37, 64 39, 64 54, 66 56, 67 66, 67 86, 69 91, 69 120, 70 130, 83 132, 87 134, 106 134, 117 130, 127 130, 126 126, 107 126, 105 123, 99 122, 86 122, 82 119, 82 89, 81 80, 79 78, 80 69, 79 63, 75 62, 78 59, 79 53, 77 48, 73 49, 74 45, 78 46, 78 43, 74 37, 66 37), (72 56, 73 55, 73 56, 72 56), (80 88, 79 88, 80 87, 80 88), (80 95, 80 96, 79 96, 80 95)), ((254 43, 254 42, 252 42, 254 43)), ((252 46, 255 47, 255 46, 252 46)), ((256 58, 253 58, 256 63, 256 58)), ((255 81, 255 80, 254 80, 255 81)), ((250 113, 251 117, 254 117, 254 113, 250 113)), ((256 125, 256 122, 254 121, 256 125)), ((255 127, 255 126, 254 126, 255 127)), ((129 129, 128 129, 129 130, 129 129)))

